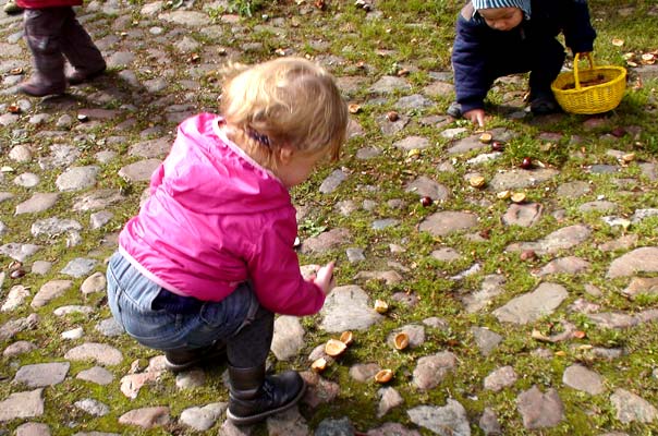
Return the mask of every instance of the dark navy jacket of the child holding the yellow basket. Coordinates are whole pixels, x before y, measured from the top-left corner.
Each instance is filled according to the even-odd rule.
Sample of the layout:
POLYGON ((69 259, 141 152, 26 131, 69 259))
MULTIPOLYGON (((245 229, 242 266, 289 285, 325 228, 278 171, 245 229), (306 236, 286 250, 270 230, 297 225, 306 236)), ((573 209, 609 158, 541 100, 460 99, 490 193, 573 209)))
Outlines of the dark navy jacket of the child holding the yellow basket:
MULTIPOLYGON (((502 64, 511 63, 510 59, 524 61, 537 53, 540 58, 544 52, 545 58, 550 59, 540 58, 540 68, 546 62, 557 62, 549 68, 557 75, 564 59, 563 48, 557 57, 546 48, 549 45, 561 47, 556 39, 560 33, 564 34, 566 46, 574 53, 593 50, 596 32, 589 22, 586 0, 532 0, 531 20, 524 19, 507 32, 492 29, 478 14, 473 16, 473 5, 468 2, 458 16, 452 48, 454 88, 462 111, 482 109, 495 78, 520 72, 517 65, 502 64)), ((555 50, 552 52, 555 55, 555 50)), ((528 61, 525 71, 532 68, 528 61)))

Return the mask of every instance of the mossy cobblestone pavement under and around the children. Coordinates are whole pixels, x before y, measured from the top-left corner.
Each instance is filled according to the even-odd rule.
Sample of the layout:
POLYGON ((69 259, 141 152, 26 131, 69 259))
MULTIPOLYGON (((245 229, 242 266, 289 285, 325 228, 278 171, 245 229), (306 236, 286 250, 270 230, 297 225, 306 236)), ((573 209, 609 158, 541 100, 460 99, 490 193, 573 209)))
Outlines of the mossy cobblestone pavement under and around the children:
POLYGON ((657 173, 642 148, 657 132, 641 122, 656 119, 655 94, 637 123, 574 125, 533 120, 512 78, 493 138, 570 150, 561 165, 519 168, 436 110, 449 72, 373 71, 321 27, 290 36, 320 16, 355 33, 341 8, 367 9, 364 26, 387 19, 376 2, 337 3, 330 17, 297 1, 242 20, 221 0, 94 0, 80 17, 110 71, 44 100, 14 94, 29 56, 21 17, 0 17, 0 435, 658 433, 657 173), (222 367, 173 376, 113 323, 103 265, 176 123, 216 110, 219 65, 308 53, 358 105, 339 167, 295 193, 302 258, 336 255, 342 286, 316 318, 277 319, 272 363, 303 371, 302 403, 235 428, 222 367), (346 355, 327 356, 325 341, 348 330, 346 355), (387 368, 392 380, 377 385, 387 368))

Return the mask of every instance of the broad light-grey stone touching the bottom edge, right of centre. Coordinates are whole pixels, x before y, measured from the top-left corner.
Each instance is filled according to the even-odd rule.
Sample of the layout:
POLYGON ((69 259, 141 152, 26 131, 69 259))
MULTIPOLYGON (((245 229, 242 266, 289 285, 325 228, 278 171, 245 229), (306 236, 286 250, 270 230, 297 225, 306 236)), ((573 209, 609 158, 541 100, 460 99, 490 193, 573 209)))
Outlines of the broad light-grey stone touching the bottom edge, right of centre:
POLYGON ((434 405, 417 405, 406 411, 410 420, 436 433, 439 436, 471 436, 471 425, 466 410, 451 398, 442 408, 434 405))

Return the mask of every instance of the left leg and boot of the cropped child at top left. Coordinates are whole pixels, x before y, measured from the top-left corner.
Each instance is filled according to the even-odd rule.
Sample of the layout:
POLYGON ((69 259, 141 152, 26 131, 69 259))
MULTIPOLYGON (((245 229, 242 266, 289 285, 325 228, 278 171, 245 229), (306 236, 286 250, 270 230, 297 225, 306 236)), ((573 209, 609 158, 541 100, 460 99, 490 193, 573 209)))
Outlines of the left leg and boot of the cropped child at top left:
POLYGON ((23 26, 32 51, 34 74, 19 90, 35 97, 62 94, 66 88, 60 33, 66 8, 28 9, 23 26))

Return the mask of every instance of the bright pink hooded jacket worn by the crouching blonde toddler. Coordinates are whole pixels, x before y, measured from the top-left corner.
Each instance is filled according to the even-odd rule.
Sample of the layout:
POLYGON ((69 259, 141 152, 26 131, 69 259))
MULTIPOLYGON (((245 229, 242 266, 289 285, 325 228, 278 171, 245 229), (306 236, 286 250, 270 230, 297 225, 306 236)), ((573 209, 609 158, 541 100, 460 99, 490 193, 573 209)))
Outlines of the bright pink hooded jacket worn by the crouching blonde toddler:
POLYGON ((178 136, 150 181, 150 197, 119 237, 120 251, 171 292, 221 301, 251 280, 276 313, 317 313, 325 294, 303 279, 290 194, 202 113, 178 136))

